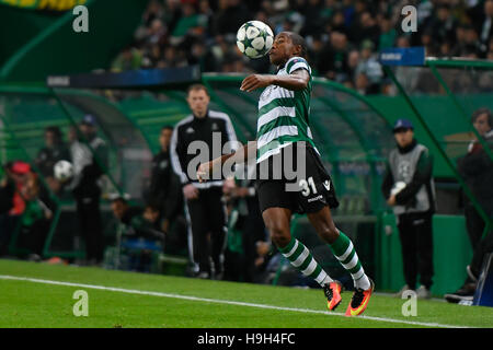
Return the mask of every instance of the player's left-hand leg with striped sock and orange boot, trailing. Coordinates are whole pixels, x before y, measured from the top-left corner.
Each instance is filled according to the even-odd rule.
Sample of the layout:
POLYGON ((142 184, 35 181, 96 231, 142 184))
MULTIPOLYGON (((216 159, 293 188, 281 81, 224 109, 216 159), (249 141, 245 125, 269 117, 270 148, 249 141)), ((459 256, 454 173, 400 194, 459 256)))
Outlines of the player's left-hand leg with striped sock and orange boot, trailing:
POLYGON ((290 234, 291 211, 286 208, 268 208, 262 213, 271 238, 283 256, 303 276, 314 279, 324 290, 328 308, 341 303, 341 283, 333 281, 311 255, 310 250, 290 234))

